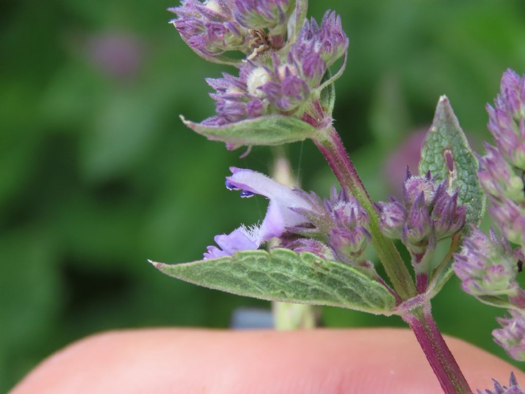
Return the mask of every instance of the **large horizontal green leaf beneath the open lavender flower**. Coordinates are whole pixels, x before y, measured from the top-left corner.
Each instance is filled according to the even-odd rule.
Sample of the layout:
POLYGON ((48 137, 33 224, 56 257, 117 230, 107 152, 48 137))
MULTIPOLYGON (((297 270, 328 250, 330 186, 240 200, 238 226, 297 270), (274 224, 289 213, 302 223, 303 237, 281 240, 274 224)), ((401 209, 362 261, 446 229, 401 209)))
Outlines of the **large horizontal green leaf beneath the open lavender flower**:
POLYGON ((224 292, 272 301, 330 305, 391 314, 392 294, 356 268, 277 248, 193 263, 151 262, 166 275, 224 292))

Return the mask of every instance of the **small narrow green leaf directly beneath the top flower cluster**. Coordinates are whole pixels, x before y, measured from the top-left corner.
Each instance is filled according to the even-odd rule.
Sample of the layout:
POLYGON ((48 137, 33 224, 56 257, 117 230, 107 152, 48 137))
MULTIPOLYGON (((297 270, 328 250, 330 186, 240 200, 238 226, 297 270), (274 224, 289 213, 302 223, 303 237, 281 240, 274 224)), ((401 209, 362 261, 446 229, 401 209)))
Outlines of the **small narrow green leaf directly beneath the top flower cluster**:
POLYGON ((235 146, 280 145, 303 141, 318 131, 300 119, 284 115, 267 115, 241 120, 225 126, 206 126, 185 120, 184 124, 212 141, 223 141, 235 146))

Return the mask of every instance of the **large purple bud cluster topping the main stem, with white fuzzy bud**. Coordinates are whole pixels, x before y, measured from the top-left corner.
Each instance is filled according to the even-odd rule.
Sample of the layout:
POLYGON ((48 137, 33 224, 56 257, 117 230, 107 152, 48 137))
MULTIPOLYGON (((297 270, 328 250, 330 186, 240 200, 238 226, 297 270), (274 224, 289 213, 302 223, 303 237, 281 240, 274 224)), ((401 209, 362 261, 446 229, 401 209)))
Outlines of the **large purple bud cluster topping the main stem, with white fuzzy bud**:
POLYGON ((289 24, 292 15, 303 15, 302 7, 301 0, 182 0, 170 9, 178 15, 172 23, 197 54, 211 61, 223 61, 229 51, 246 55, 245 61, 234 62, 238 77, 207 79, 216 90, 211 95, 216 115, 203 126, 227 127, 274 114, 320 119, 321 107, 313 103, 321 81, 346 53, 349 40, 334 12, 328 11, 320 25, 313 19, 289 24), (302 27, 294 33, 297 23, 302 27), (285 37, 293 42, 285 43, 285 37))

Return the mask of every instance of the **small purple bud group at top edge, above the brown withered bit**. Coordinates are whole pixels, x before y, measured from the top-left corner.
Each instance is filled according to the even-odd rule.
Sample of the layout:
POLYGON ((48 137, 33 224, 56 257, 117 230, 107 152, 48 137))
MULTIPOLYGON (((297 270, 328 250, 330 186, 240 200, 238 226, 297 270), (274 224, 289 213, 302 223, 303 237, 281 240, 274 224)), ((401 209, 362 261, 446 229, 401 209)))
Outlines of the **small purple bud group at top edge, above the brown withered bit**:
POLYGON ((292 11, 290 3, 290 0, 235 0, 235 19, 248 29, 284 34, 292 11))

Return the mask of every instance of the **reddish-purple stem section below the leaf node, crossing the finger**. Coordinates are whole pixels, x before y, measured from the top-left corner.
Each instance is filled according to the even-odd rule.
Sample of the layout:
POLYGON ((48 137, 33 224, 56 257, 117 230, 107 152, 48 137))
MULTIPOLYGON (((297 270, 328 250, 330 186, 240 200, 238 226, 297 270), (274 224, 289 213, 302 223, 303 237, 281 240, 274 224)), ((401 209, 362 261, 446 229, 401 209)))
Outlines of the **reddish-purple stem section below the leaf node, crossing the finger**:
POLYGON ((434 322, 430 304, 412 310, 403 316, 403 320, 414 331, 443 391, 446 394, 470 394, 472 391, 434 322))

